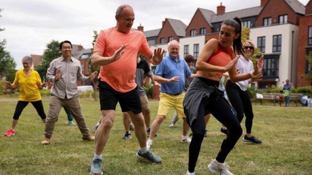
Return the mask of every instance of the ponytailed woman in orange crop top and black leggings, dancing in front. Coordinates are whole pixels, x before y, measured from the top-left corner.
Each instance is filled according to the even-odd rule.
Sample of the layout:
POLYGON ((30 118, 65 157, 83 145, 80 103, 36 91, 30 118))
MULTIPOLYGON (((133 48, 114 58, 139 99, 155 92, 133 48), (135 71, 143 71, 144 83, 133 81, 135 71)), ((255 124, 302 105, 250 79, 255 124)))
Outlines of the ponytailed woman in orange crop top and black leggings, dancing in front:
POLYGON ((223 97, 223 92, 218 89, 218 85, 225 72, 229 73, 232 82, 261 77, 263 56, 256 62, 254 71, 237 74, 235 64, 240 56, 235 57, 235 54, 243 55, 243 53, 241 21, 235 17, 221 23, 219 39, 210 39, 199 54, 195 66, 196 77, 183 101, 184 113, 193 132, 186 175, 195 175, 196 161, 205 133, 204 116, 208 113, 211 113, 229 130, 218 155, 208 165, 208 169, 220 175, 233 175, 224 162, 242 135, 242 128, 234 109, 223 97))

